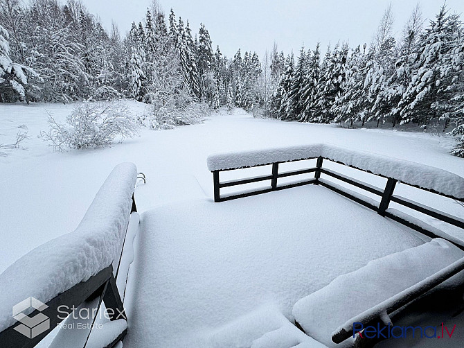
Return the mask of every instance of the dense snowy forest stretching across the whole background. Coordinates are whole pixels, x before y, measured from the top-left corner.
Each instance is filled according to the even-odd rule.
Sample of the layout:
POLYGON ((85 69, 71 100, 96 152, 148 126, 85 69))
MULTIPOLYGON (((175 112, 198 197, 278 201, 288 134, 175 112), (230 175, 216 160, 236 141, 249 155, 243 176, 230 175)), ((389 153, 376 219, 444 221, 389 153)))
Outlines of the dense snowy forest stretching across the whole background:
POLYGON ((274 44, 262 59, 240 49, 228 59, 204 24, 193 35, 172 9, 151 6, 122 36, 79 0, 0 0, 0 101, 134 98, 168 116, 201 104, 348 126, 427 130, 439 122, 458 139, 452 153, 464 157, 463 23, 445 6, 437 10, 425 21, 416 6, 401 37, 393 37, 389 7, 370 44, 315 44, 297 58, 274 44))

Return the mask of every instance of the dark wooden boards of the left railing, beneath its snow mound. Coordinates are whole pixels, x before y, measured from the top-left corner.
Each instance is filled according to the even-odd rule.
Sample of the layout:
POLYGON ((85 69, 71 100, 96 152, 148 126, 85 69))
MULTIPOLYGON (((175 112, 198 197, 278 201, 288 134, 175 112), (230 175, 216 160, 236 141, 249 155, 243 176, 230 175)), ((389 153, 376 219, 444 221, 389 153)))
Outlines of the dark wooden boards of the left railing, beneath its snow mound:
MULTIPOLYGON (((143 180, 145 182, 145 175, 143 173, 137 173, 137 179, 143 180)), ((134 194, 132 194, 132 208, 130 214, 136 213, 136 204, 134 199, 134 194)), ((127 219, 130 221, 130 218, 127 219)), ((127 228, 130 226, 128 223, 127 228)), ((126 234, 127 234, 126 228, 126 234)), ((55 296, 50 301, 46 302, 47 308, 43 309, 42 311, 35 310, 33 313, 30 313, 30 317, 34 317, 35 315, 42 313, 46 315, 50 320, 49 326, 50 329, 44 331, 44 333, 39 334, 33 338, 28 338, 23 334, 19 333, 15 330, 17 327, 17 323, 12 324, 12 326, 8 327, 4 331, 0 332, 0 347, 8 347, 8 348, 30 348, 35 347, 41 340, 43 340, 48 333, 51 332, 51 329, 57 327, 60 322, 62 322, 65 317, 60 315, 63 314, 63 311, 59 311, 58 308, 64 306, 64 308, 78 308, 78 306, 82 304, 89 304, 92 301, 98 298, 98 306, 96 308, 100 308, 102 302, 105 304, 105 308, 107 309, 107 317, 109 320, 126 320, 127 316, 125 313, 125 308, 123 305, 123 299, 121 299, 120 291, 118 286, 116 285, 116 279, 118 277, 125 277, 127 280, 127 274, 119 275, 119 265, 121 263, 121 257, 123 256, 125 246, 125 236, 123 239, 123 243, 121 246, 121 254, 118 255, 118 259, 116 259, 111 265, 107 268, 101 270, 96 275, 90 277, 87 281, 82 281, 79 284, 76 284, 69 290, 64 291, 64 293, 60 293, 59 295, 55 296), (116 272, 114 272, 113 265, 118 265, 116 272)), ((125 284, 125 283, 124 283, 125 284)), ((14 286, 14 284, 11 284, 14 286)), ((125 289, 122 289, 123 291, 125 289)), ((93 317, 93 320, 96 319, 96 316, 93 317)), ((90 336, 90 331, 87 336, 87 340, 90 336)), ((118 342, 123 340, 127 333, 127 329, 122 331, 112 342, 109 342, 106 348, 115 347, 118 342)), ((87 341, 83 345, 85 347, 87 345, 87 341)), ((76 346, 77 347, 77 346, 76 346)))

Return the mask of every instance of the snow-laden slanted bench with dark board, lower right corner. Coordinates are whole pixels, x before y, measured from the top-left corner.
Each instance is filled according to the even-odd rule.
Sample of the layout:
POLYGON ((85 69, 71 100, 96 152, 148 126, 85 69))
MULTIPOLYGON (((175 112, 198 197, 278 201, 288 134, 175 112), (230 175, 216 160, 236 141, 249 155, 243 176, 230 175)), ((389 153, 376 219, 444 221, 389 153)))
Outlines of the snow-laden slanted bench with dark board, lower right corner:
MULTIPOLYGON (((319 342, 330 347, 350 338, 352 345, 357 332, 369 326, 377 329, 377 323, 380 328, 388 326, 389 314, 462 270, 464 251, 436 238, 337 277, 296 302, 293 315, 319 342)), ((364 336, 377 338, 372 332, 364 336)))

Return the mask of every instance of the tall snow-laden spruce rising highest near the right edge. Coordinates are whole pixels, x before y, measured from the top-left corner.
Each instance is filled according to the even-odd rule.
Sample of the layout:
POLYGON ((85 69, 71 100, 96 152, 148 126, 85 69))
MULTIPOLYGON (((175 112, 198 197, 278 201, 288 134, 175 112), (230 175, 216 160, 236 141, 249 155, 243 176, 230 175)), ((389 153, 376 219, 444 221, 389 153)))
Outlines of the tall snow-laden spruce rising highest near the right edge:
POLYGON ((426 127, 430 119, 452 110, 447 106, 449 95, 443 92, 453 76, 445 76, 441 67, 456 48, 461 31, 459 16, 449 15, 443 6, 422 34, 411 81, 398 103, 402 124, 413 121, 426 127))

